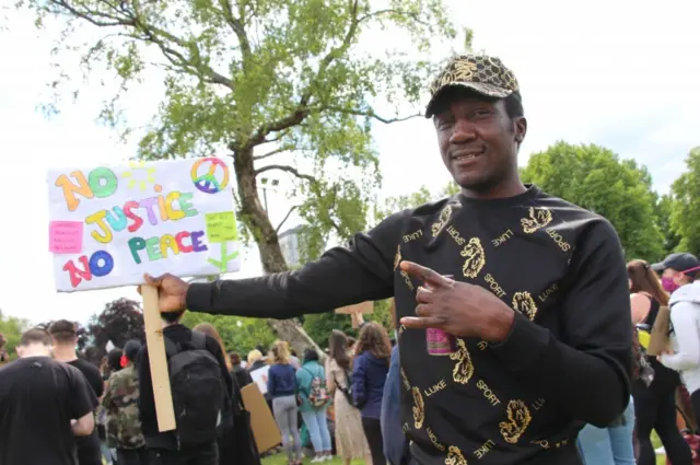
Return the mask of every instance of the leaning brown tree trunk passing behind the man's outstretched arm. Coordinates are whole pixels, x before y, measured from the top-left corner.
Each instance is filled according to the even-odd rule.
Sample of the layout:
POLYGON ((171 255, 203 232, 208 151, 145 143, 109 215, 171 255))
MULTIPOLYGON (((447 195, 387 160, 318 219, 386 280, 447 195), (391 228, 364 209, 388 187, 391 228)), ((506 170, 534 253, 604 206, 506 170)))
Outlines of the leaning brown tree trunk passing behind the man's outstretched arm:
MULTIPOLYGON (((233 165, 238 183, 243 221, 253 232, 260 248, 262 269, 267 274, 287 271, 287 261, 282 255, 279 237, 258 196, 253 148, 234 150, 233 165)), ((301 357, 304 349, 312 348, 318 352, 322 359, 325 358, 323 350, 308 337, 296 319, 269 318, 267 322, 275 334, 281 340, 287 340, 298 356, 301 357)))

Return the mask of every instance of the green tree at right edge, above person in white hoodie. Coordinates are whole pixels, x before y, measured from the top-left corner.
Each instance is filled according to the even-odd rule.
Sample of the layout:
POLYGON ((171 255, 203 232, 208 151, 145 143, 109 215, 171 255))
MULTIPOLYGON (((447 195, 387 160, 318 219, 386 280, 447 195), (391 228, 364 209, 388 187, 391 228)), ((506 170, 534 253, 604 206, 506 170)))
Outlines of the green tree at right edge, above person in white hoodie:
POLYGON ((700 254, 700 147, 686 159, 687 170, 672 186, 670 225, 680 239, 677 252, 700 254))

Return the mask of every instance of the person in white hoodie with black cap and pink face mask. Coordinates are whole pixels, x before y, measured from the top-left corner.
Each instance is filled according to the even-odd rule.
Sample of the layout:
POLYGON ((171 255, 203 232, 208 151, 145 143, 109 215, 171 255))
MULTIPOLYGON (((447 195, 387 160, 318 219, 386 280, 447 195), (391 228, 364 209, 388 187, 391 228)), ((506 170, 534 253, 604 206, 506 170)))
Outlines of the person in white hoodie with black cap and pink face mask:
POLYGON ((680 372, 700 418, 700 260, 688 253, 672 254, 652 269, 662 272, 662 284, 670 292, 673 353, 660 356, 658 361, 680 372))

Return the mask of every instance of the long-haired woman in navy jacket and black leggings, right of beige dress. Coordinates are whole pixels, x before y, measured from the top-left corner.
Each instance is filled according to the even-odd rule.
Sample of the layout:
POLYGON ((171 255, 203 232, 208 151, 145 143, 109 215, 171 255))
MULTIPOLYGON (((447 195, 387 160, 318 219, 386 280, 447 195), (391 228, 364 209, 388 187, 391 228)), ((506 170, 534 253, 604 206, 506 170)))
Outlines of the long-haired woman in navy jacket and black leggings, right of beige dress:
POLYGON ((360 330, 352 363, 352 398, 362 415, 372 463, 377 465, 386 462, 380 418, 390 357, 392 344, 386 329, 377 323, 366 323, 360 330))

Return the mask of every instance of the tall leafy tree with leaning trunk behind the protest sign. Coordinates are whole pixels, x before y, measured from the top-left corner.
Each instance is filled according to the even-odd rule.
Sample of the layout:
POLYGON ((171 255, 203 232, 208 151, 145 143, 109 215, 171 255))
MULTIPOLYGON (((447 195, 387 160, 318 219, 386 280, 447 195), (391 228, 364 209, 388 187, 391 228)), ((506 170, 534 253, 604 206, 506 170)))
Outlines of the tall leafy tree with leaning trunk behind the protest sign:
MULTIPOLYGON (((39 26, 48 16, 68 19, 58 49, 73 49, 69 39, 81 25, 100 37, 82 47, 81 62, 88 72, 106 67, 121 82, 101 116, 125 135, 130 128, 118 112, 119 97, 154 66, 163 70, 164 100, 139 155, 158 160, 225 150, 233 158, 240 217, 266 272, 283 271, 287 264, 278 240, 282 224, 270 222, 258 176, 277 171, 293 177, 293 208, 317 239, 364 229, 364 206, 380 182, 372 124, 416 116, 400 116, 394 104, 395 116, 380 116, 380 96, 415 106, 435 71, 433 45, 456 37, 443 0, 386 0, 378 9, 371 3, 376 4, 21 0, 36 12, 39 26), (361 38, 380 27, 405 33, 417 58, 361 51, 361 38), (350 173, 362 182, 349 179, 350 173)), ((465 37, 468 45, 470 32, 465 37)), ((54 86, 60 89, 60 80, 54 86)), ((293 321, 270 325, 298 350, 313 345, 293 321)))

